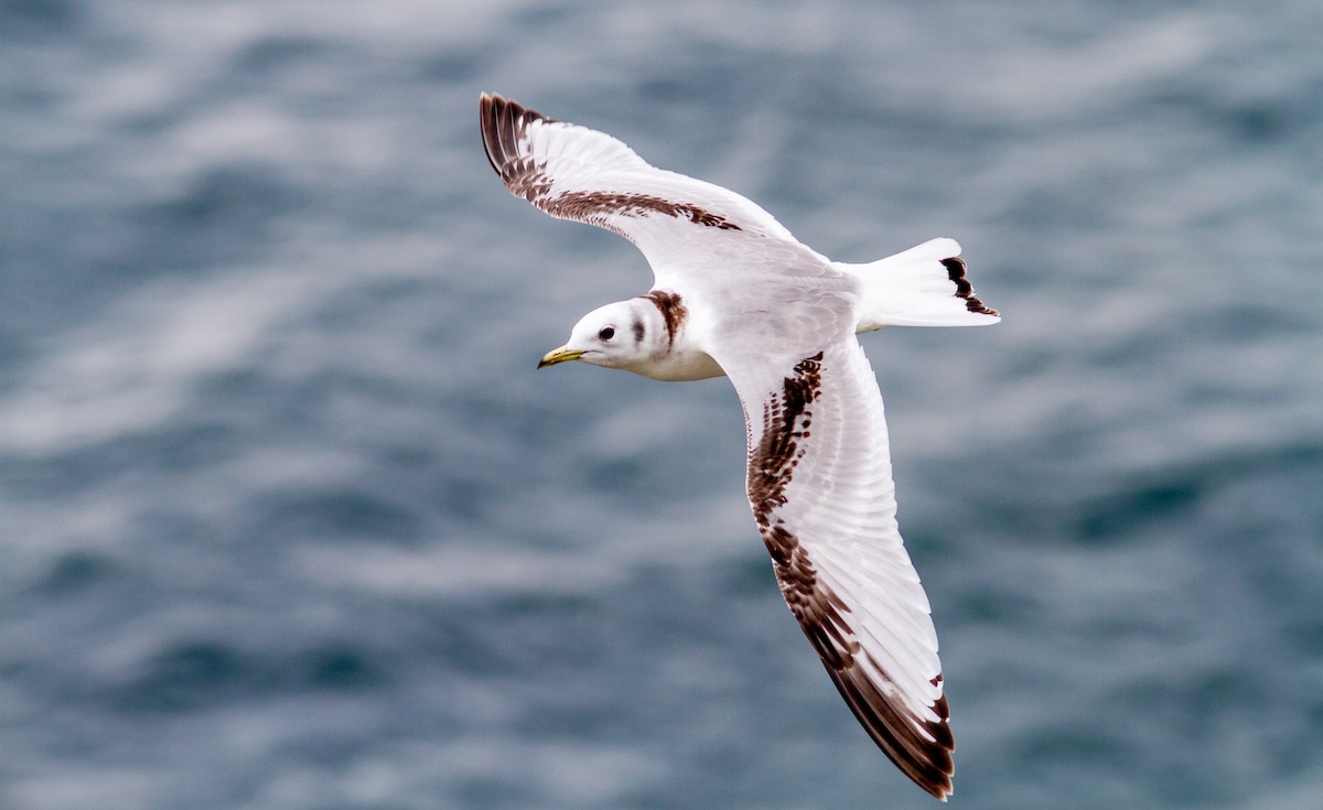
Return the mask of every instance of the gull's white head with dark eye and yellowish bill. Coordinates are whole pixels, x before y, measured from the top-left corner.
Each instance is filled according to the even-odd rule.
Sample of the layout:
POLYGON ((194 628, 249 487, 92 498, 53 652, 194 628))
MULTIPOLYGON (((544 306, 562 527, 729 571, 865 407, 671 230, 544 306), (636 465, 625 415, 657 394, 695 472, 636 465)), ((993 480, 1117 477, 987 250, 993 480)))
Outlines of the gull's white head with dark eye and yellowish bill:
POLYGON ((569 341, 548 352, 537 368, 582 360, 606 368, 643 373, 660 360, 669 345, 665 319, 647 298, 618 300, 585 315, 570 331, 569 341))

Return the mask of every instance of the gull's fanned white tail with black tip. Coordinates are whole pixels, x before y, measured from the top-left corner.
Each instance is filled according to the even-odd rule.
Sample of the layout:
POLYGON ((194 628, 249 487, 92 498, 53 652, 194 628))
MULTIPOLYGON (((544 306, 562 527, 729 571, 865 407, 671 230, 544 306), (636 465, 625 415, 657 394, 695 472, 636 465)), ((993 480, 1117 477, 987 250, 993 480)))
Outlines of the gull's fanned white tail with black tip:
POLYGON ((832 262, 864 286, 859 332, 884 326, 987 326, 1002 320, 974 296, 955 240, 937 238, 867 265, 832 262))

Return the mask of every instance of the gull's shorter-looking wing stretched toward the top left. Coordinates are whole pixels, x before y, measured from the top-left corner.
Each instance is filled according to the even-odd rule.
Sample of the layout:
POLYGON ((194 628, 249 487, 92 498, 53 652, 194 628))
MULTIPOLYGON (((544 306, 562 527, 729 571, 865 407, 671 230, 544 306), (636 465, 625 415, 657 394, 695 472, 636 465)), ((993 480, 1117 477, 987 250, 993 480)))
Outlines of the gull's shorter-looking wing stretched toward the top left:
POLYGON ((483 143, 511 193, 546 213, 614 230, 663 283, 732 265, 837 275, 771 214, 730 189, 648 165, 605 132, 549 119, 499 95, 480 102, 483 143), (758 254, 763 261, 746 259, 758 254))

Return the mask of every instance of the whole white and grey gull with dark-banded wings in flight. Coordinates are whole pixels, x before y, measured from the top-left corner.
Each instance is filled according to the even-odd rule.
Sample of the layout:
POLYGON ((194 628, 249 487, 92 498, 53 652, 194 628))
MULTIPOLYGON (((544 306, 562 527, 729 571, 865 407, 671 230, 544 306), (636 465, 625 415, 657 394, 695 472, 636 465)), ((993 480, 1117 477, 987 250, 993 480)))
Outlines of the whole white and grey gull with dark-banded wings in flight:
POLYGON ((480 116, 515 196, 623 236, 652 267, 651 290, 585 315, 538 368, 730 379, 749 506, 790 611, 869 737, 946 801, 955 744, 937 633, 896 524, 882 396, 856 335, 1000 320, 974 295, 960 246, 935 238, 833 262, 753 201, 655 168, 605 132, 486 93, 480 116))

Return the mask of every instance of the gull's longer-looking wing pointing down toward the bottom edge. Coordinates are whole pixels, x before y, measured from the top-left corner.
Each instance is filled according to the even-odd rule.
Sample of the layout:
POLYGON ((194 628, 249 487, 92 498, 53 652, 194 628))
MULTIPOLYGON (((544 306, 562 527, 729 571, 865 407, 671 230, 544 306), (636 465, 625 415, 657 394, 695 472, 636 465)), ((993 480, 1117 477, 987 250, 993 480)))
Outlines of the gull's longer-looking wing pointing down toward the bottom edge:
POLYGON ((749 503, 781 592, 869 736, 951 791, 929 602, 896 527, 882 398, 853 336, 798 361, 714 353, 745 406, 749 503))

